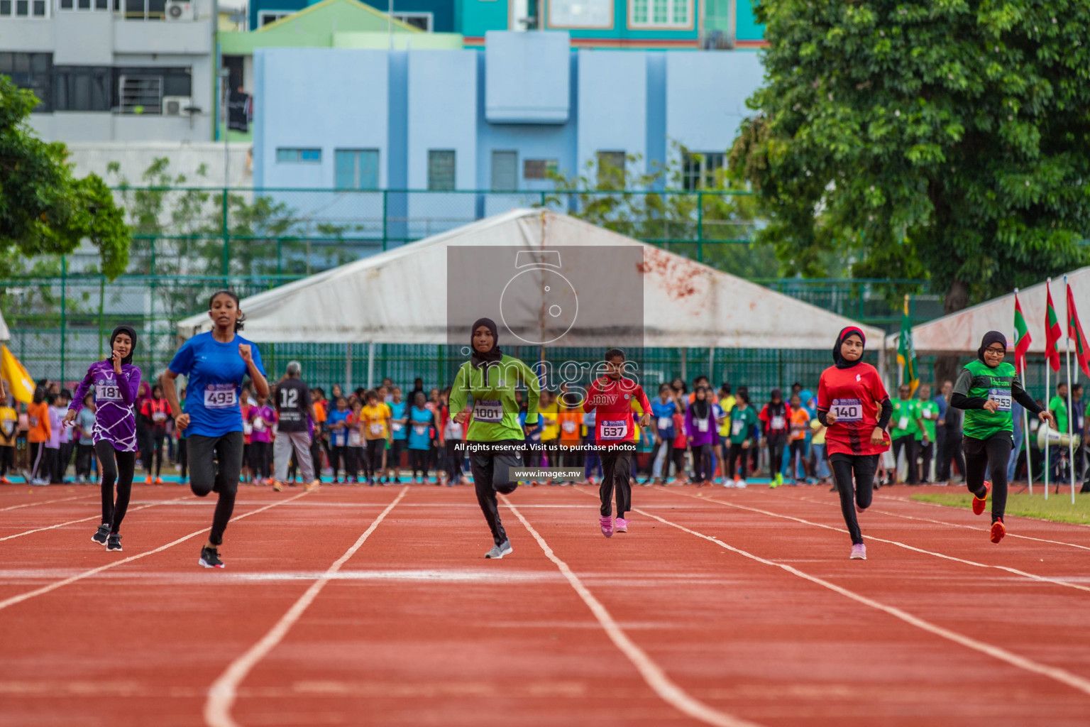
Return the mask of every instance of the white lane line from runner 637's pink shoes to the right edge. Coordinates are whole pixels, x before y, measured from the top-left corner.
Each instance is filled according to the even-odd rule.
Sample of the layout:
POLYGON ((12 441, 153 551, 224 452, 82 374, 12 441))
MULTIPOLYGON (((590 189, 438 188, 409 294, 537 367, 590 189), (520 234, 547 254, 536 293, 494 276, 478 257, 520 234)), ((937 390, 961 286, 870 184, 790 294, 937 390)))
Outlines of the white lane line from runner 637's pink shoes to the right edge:
POLYGON ((948 641, 953 641, 956 644, 960 644, 962 646, 966 646, 967 649, 971 649, 972 651, 980 652, 981 654, 986 654, 988 656, 996 658, 1001 662, 1005 662, 1019 669, 1025 669, 1026 671, 1031 671, 1033 674, 1039 674, 1050 679, 1054 679, 1063 684, 1067 684, 1068 687, 1077 689, 1078 691, 1085 694, 1090 694, 1090 680, 1083 679, 1078 675, 1071 674, 1067 669, 1062 669, 1055 666, 1047 666, 1045 664, 1034 662, 1033 659, 1026 658, 1025 656, 1019 656, 1018 654, 1015 654, 1013 652, 1008 652, 1006 649, 1003 649, 1001 646, 994 646, 983 641, 973 639, 972 637, 967 637, 964 633, 958 633, 957 631, 952 631, 950 629, 937 626, 935 623, 932 623, 931 621, 925 621, 924 619, 919 618, 918 616, 912 616, 908 611, 901 610, 900 608, 897 608, 895 606, 887 606, 883 603, 874 601, 873 598, 869 598, 864 595, 856 593, 855 591, 849 591, 848 589, 839 586, 835 583, 831 583, 825 579, 818 578, 816 575, 811 575, 810 573, 803 572, 798 568, 795 568, 794 566, 775 562, 774 560, 767 560, 765 558, 762 558, 761 556, 755 556, 752 553, 747 553, 741 548, 736 548, 732 545, 728 545, 727 543, 724 543, 717 537, 714 537, 712 535, 704 535, 703 533, 698 533, 695 530, 690 530, 685 525, 679 525, 676 522, 670 522, 665 518, 659 518, 658 516, 646 512, 645 510, 637 508, 633 511, 639 512, 644 517, 651 518, 652 520, 657 520, 664 525, 670 525, 671 528, 677 528, 678 530, 687 532, 691 535, 695 535, 697 537, 702 537, 705 541, 715 543, 719 547, 726 548, 731 553, 737 553, 738 555, 744 556, 750 560, 755 560, 760 564, 764 564, 765 566, 772 566, 773 568, 779 568, 780 570, 786 570, 788 573, 791 573, 792 575, 798 575, 803 580, 810 581, 811 583, 815 583, 822 587, 828 589, 834 593, 839 593, 840 595, 851 598, 852 601, 856 601, 858 603, 861 603, 864 606, 870 606, 875 610, 888 614, 894 618, 900 619, 901 621, 915 626, 918 629, 922 629, 923 631, 928 631, 929 633, 933 633, 936 637, 941 637, 948 641))

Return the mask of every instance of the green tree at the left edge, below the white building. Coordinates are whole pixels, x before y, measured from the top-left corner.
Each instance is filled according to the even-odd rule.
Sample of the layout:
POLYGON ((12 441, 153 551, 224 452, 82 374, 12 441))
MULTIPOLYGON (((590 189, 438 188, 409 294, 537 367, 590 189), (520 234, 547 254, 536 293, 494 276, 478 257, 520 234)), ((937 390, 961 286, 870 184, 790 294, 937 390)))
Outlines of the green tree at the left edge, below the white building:
POLYGON ((47 144, 27 125, 38 99, 0 76, 0 270, 21 270, 39 255, 63 255, 88 240, 113 279, 129 263, 130 230, 113 195, 95 174, 76 179, 63 144, 47 144))

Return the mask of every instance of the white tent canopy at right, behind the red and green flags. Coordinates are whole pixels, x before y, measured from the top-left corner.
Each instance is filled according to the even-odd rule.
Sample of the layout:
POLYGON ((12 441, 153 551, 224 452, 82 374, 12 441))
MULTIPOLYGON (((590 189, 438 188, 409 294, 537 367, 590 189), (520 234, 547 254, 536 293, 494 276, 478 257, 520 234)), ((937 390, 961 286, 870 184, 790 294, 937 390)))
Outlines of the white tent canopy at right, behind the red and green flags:
MULTIPOLYGON (((1087 330, 1090 323, 1090 267, 1079 268, 1067 274, 1067 282, 1071 287, 1075 307, 1080 311, 1082 329, 1087 330)), ((1018 302, 1021 303, 1022 315, 1029 328, 1032 343, 1030 353, 1044 353, 1044 308, 1045 283, 1040 282, 1031 288, 1018 291, 1018 302)), ((1066 334, 1067 292, 1064 290, 1064 278, 1052 279, 1052 304, 1056 308, 1059 327, 1066 334)), ((976 353, 980 340, 990 330, 997 330, 1007 337, 1007 348, 1014 349, 1015 334, 1015 294, 1010 292, 1000 298, 973 305, 972 307, 952 313, 942 318, 935 318, 912 328, 912 346, 917 353, 976 353)), ((886 349, 896 349, 900 336, 895 334, 886 339, 886 349)))

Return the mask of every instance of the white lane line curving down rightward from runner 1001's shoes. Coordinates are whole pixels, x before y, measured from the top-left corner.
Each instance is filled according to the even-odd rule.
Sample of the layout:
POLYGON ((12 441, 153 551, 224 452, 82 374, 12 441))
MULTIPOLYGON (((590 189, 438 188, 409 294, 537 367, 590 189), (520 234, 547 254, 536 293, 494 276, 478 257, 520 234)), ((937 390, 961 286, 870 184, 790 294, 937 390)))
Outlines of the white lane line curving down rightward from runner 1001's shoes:
POLYGON ((571 587, 574 589, 576 593, 579 594, 579 597, 583 599, 583 603, 585 603, 588 608, 591 609, 591 613, 594 614, 594 617, 598 620, 598 623, 602 625, 602 628, 609 637, 609 640, 614 642, 614 645, 628 657, 628 659, 640 673, 640 676, 643 677, 643 680, 647 682, 647 686, 651 687, 651 689, 654 690, 654 692, 658 694, 664 702, 676 708, 678 712, 681 712, 693 719, 699 719, 706 725, 715 725, 716 727, 755 727, 756 723, 740 719, 739 717, 714 710, 674 683, 674 681, 666 676, 666 673, 662 669, 662 667, 655 664, 642 649, 637 646, 635 643, 628 638, 628 634, 621 630, 621 628, 617 625, 617 621, 614 620, 614 617, 608 610, 606 610, 606 607, 602 605, 602 602, 595 598, 594 594, 592 594, 590 590, 583 585, 583 582, 578 575, 576 575, 574 572, 572 572, 571 568, 568 567, 568 564, 560 560, 560 558, 553 553, 553 548, 548 546, 545 538, 542 537, 536 530, 534 530, 533 525, 531 525, 530 522, 522 516, 519 509, 511 505, 511 501, 507 499, 507 496, 500 495, 499 498, 504 500, 504 505, 510 508, 511 512, 514 513, 514 517, 518 518, 530 534, 534 536, 534 540, 537 541, 537 545, 540 545, 542 550, 545 553, 545 557, 552 560, 553 564, 560 569, 560 572, 564 573, 566 579, 568 579, 568 583, 571 587))

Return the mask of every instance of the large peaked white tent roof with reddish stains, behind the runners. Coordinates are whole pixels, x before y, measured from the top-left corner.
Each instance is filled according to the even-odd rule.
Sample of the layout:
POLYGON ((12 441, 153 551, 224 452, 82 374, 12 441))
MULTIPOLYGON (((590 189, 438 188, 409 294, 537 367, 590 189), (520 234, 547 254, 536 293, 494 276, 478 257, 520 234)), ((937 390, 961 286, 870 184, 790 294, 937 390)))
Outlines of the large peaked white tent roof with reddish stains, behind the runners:
MULTIPOLYGON (((853 324, 567 215, 516 209, 246 298, 244 336, 257 342, 447 343, 447 252, 456 245, 642 249, 645 347, 832 349, 837 332, 853 324)), ((183 338, 209 327, 206 314, 178 324, 183 338)), ((882 340, 883 331, 862 328, 882 340)))

